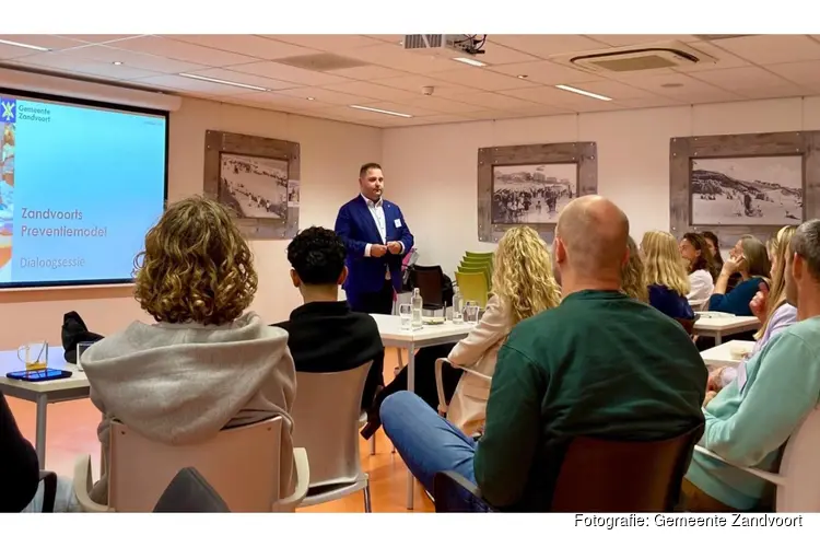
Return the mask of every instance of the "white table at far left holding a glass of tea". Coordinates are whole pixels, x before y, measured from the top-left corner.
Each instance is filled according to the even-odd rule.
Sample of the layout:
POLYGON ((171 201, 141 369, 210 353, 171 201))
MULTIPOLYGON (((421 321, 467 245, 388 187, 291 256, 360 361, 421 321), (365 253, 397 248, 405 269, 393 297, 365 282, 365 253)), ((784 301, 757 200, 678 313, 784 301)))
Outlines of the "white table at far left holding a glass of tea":
POLYGON ((72 376, 46 382, 24 382, 5 376, 9 372, 25 370, 25 364, 17 359, 16 350, 0 351, 0 392, 7 397, 31 400, 37 405, 37 426, 35 450, 40 469, 46 468, 46 421, 49 403, 84 399, 89 397, 90 387, 85 373, 79 372, 77 366, 67 363, 60 347, 48 348, 48 368, 65 369, 72 372, 72 376))

